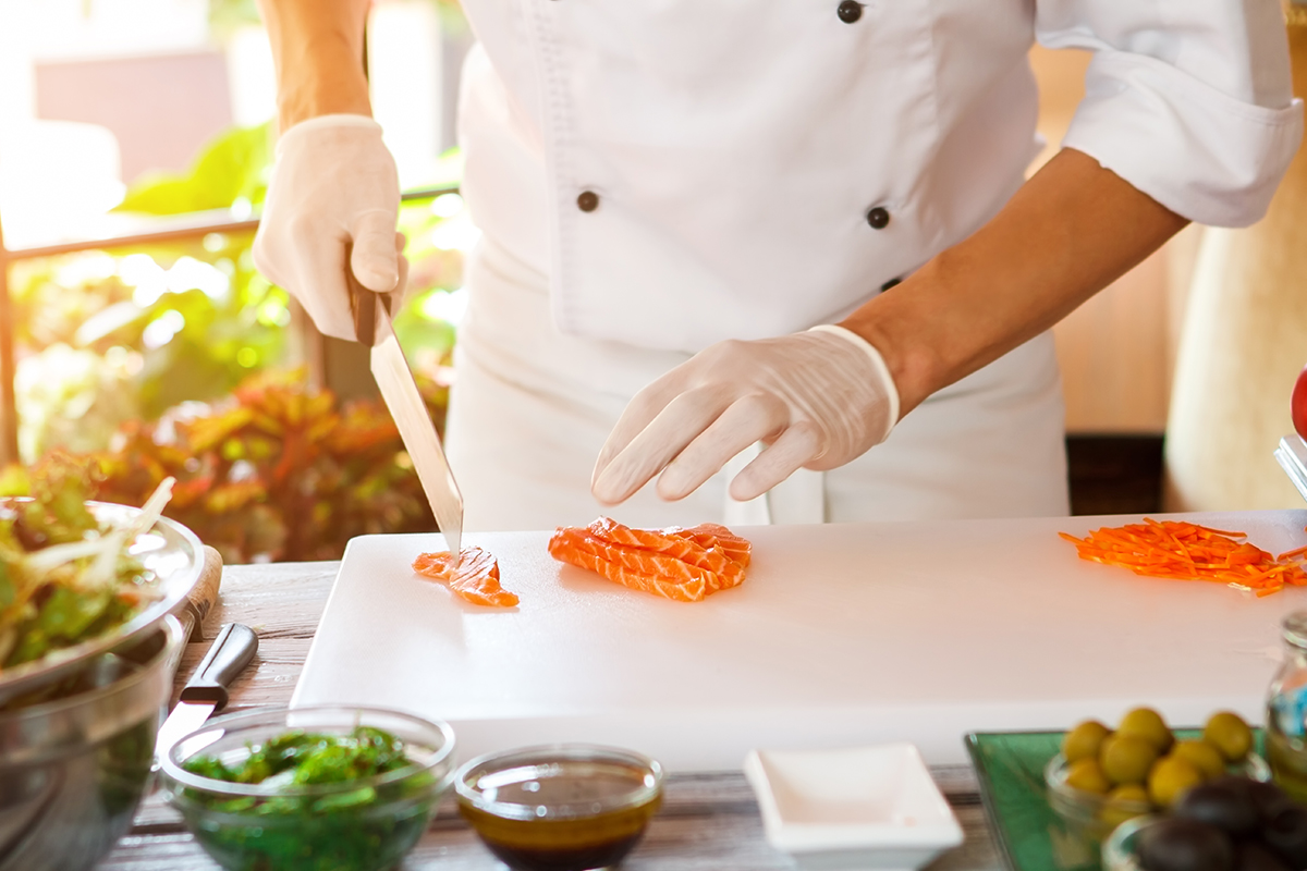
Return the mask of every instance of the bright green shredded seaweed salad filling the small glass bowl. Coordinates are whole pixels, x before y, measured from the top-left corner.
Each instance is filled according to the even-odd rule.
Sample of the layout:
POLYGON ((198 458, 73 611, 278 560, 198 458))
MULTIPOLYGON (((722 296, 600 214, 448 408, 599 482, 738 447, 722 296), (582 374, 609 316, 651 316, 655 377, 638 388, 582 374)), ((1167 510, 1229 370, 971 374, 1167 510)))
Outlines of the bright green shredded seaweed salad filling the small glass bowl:
POLYGON ((227 784, 269 787, 268 795, 187 787, 175 802, 223 868, 387 868, 422 836, 439 799, 437 778, 380 729, 357 726, 341 735, 291 730, 247 750, 238 763, 199 755, 183 768, 227 784), (387 784, 369 782, 405 768, 414 770, 387 784))

